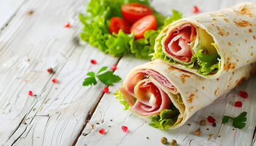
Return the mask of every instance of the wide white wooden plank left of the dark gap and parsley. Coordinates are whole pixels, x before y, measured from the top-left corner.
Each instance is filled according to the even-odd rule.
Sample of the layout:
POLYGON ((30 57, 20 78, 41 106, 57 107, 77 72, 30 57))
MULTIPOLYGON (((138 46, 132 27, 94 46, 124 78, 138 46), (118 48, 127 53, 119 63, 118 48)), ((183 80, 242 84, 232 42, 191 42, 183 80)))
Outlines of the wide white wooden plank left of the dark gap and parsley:
POLYGON ((27 1, 1 33, 0 145, 71 145, 80 133, 104 87, 83 87, 87 72, 118 61, 79 44, 85 2, 27 1), (73 27, 63 27, 68 21, 73 27))

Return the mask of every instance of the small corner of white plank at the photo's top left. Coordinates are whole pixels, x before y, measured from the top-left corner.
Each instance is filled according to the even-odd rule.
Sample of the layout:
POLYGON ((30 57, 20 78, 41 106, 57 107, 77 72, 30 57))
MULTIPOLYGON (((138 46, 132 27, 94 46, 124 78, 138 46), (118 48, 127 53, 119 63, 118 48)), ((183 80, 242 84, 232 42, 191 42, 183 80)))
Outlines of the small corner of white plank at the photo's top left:
POLYGON ((9 21, 15 16, 15 13, 20 8, 25 0, 1 0, 0 1, 0 32, 4 29, 9 21))

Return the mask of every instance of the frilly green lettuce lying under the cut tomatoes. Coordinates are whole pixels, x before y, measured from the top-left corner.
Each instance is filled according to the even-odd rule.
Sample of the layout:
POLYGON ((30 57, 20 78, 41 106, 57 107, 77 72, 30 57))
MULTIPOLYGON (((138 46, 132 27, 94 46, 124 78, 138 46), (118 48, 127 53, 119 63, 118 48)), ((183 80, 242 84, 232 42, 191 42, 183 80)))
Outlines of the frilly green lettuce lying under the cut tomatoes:
POLYGON ((134 33, 126 34, 122 30, 118 34, 110 34, 108 30, 110 19, 113 16, 122 17, 121 5, 129 2, 138 2, 151 7, 148 0, 90 1, 85 8, 87 12, 85 16, 82 14, 79 15, 80 21, 84 24, 80 38, 89 42, 91 46, 98 47, 102 52, 115 57, 132 52, 137 58, 151 58, 148 55, 154 52, 155 38, 162 30, 164 23, 181 18, 181 14, 173 11, 172 17, 168 17, 168 20, 165 20, 166 16, 155 12, 153 9, 153 15, 157 19, 157 30, 146 31, 143 39, 135 40, 134 33))

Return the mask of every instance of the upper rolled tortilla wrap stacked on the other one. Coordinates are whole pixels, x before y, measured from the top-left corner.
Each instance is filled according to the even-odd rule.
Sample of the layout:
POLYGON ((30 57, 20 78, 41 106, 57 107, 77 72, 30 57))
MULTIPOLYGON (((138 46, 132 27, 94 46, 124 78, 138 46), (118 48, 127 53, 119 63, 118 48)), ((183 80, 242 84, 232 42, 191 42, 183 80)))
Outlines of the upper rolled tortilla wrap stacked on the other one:
POLYGON ((256 4, 243 2, 169 24, 157 36, 153 56, 212 78, 256 61, 256 4))

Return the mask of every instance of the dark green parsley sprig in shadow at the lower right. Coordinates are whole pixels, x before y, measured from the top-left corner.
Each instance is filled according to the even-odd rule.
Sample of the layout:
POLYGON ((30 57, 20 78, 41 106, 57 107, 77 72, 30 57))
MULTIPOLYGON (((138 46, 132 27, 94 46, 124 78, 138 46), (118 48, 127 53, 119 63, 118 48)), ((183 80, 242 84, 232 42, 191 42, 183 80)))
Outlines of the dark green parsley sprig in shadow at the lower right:
POLYGON ((229 119, 232 119, 233 127, 241 129, 241 128, 244 128, 244 126, 246 125, 246 120, 247 120, 246 116, 247 116, 247 112, 245 111, 237 117, 223 116, 222 123, 227 123, 229 122, 229 119))

